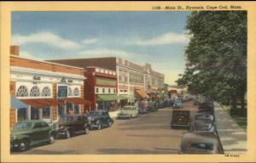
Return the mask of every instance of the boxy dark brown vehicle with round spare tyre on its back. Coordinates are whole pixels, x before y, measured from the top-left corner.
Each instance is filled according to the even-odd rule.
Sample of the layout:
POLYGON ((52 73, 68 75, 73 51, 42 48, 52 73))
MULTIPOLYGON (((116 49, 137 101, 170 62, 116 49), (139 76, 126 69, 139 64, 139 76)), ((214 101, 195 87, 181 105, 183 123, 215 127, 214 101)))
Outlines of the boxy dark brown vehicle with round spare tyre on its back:
POLYGON ((191 124, 189 110, 172 110, 172 128, 188 128, 191 124))

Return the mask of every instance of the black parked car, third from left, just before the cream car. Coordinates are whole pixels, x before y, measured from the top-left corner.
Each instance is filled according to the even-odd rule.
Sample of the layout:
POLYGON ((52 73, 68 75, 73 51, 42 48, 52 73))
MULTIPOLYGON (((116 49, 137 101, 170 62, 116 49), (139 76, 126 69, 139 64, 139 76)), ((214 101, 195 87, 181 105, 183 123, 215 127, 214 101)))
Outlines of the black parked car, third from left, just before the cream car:
POLYGON ((94 110, 88 115, 90 128, 101 130, 104 126, 112 126, 113 119, 109 116, 107 110, 94 110))

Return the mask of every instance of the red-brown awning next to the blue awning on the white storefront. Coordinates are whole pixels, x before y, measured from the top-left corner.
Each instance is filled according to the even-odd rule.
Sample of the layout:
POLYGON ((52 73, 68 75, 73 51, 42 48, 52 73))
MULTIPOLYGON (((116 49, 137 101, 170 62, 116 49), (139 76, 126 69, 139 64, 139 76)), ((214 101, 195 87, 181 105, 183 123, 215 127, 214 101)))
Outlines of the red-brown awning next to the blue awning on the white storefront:
POLYGON ((54 98, 20 99, 22 102, 31 105, 33 108, 41 109, 47 106, 56 106, 58 101, 54 98))

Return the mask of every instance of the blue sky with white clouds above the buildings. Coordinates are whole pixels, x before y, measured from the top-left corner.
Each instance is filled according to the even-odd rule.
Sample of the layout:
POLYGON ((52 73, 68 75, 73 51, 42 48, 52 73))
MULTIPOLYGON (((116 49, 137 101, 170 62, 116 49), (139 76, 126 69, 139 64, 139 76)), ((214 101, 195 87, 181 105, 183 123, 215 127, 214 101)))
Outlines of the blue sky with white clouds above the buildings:
POLYGON ((32 59, 116 56, 165 74, 175 84, 185 66, 189 12, 14 12, 12 44, 32 59))

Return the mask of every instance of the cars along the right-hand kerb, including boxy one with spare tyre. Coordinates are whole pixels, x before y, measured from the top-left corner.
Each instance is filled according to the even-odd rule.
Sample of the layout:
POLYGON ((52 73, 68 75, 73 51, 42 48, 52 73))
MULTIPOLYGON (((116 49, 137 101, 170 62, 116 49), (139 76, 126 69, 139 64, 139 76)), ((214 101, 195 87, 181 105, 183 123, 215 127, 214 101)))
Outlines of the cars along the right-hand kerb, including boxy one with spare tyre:
POLYGON ((198 104, 198 110, 192 119, 190 110, 173 110, 172 128, 187 128, 183 134, 180 154, 222 154, 223 149, 218 140, 214 124, 214 106, 212 100, 198 104))

